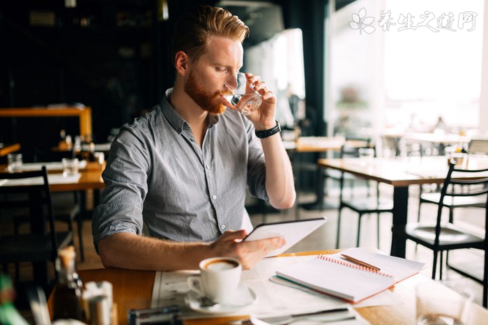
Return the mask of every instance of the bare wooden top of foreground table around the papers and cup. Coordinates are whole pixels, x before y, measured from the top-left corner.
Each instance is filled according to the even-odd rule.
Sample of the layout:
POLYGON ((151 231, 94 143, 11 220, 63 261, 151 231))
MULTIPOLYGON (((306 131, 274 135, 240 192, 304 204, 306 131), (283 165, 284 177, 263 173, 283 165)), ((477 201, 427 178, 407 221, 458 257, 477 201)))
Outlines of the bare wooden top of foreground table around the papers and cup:
MULTIPOLYGON (((323 250, 321 254, 333 254, 337 250, 323 250)), ((317 255, 319 252, 300 252, 281 256, 317 255)), ((130 309, 149 308, 154 285, 155 271, 134 271, 124 269, 94 269, 78 271, 84 283, 89 281, 106 280, 112 282, 114 289, 114 303, 117 304, 119 324, 127 324, 127 311, 130 309)), ((415 285, 423 281, 432 281, 425 275, 418 274, 399 282, 390 291, 399 303, 386 306, 356 308, 371 324, 415 324, 415 285)), ((453 293, 454 294, 454 293, 453 293)), ((48 301, 52 315, 52 295, 48 301)), ((484 324, 488 319, 488 311, 479 305, 473 305, 470 311, 472 324, 484 324)), ((243 317, 218 317, 206 319, 185 320, 185 325, 218 325, 229 324, 232 319, 243 317)))

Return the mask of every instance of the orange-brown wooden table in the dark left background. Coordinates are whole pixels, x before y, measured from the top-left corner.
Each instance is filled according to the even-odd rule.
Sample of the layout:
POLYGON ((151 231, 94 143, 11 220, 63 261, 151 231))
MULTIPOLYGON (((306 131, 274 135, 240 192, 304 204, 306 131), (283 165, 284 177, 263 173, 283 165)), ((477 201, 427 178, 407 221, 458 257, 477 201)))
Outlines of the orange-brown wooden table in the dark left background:
POLYGON ((91 107, 7 107, 0 108, 0 117, 63 117, 75 116, 79 119, 79 135, 92 137, 91 107))

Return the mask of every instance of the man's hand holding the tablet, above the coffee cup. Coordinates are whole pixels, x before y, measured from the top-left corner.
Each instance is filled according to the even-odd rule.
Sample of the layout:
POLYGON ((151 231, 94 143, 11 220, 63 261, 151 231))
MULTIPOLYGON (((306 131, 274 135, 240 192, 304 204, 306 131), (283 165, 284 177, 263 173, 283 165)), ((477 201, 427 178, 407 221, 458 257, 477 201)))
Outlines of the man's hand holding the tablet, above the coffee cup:
POLYGON ((277 250, 286 243, 280 237, 242 241, 245 236, 247 236, 245 230, 225 232, 211 243, 212 255, 234 257, 241 261, 243 269, 248 270, 252 269, 268 252, 277 250))

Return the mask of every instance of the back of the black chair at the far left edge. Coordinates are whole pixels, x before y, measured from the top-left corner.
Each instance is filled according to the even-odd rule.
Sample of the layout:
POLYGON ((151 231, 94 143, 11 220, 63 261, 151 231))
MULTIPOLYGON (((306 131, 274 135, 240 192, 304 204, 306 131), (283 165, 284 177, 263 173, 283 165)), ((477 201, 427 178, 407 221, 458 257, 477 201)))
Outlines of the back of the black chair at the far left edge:
POLYGON ((0 172, 0 211, 28 209, 31 232, 45 234, 45 220, 49 222, 52 259, 57 255, 56 232, 47 169, 31 172, 0 172))

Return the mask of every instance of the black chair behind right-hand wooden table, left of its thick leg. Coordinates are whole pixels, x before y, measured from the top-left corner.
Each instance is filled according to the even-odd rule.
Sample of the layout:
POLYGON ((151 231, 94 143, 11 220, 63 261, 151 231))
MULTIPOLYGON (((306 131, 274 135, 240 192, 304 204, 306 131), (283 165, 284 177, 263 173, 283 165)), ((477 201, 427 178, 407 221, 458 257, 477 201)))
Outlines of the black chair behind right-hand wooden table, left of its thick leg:
POLYGON ((358 236, 356 240, 357 246, 359 246, 359 239, 360 239, 361 217, 370 213, 376 213, 378 215, 378 220, 376 222, 376 245, 379 247, 379 225, 380 225, 379 215, 380 213, 393 213, 393 201, 391 199, 381 198, 378 183, 376 183, 376 197, 368 195, 367 197, 344 198, 343 188, 344 188, 345 174, 346 173, 342 172, 341 179, 340 179, 340 203, 339 203, 339 212, 337 214, 337 236, 336 236, 335 247, 339 248, 339 244, 340 244, 340 227, 341 227, 342 209, 344 208, 351 209, 352 211, 358 213, 358 236))

